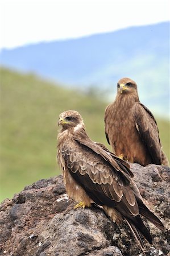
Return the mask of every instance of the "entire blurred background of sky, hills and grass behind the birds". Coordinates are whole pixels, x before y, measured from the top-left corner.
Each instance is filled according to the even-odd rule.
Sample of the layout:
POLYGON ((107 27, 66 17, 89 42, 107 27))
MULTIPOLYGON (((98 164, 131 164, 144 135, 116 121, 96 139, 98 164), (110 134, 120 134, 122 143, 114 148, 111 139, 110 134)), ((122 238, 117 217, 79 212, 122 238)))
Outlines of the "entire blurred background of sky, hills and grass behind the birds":
POLYGON ((59 175, 57 120, 77 110, 108 146, 106 106, 130 77, 170 160, 169 1, 1 0, 0 201, 59 175))

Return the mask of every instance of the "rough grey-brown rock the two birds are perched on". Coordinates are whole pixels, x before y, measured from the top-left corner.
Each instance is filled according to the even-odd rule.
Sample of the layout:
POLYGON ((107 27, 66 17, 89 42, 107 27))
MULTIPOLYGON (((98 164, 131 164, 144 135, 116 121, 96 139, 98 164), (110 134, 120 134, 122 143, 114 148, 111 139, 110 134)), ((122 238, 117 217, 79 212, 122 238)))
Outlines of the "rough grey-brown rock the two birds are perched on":
MULTIPOLYGON (((168 167, 131 164, 144 202, 164 223, 165 232, 146 225, 154 244, 146 255, 169 255, 168 167)), ((63 177, 39 180, 0 206, 0 255, 144 255, 128 226, 117 226, 102 209, 73 209, 63 177)))

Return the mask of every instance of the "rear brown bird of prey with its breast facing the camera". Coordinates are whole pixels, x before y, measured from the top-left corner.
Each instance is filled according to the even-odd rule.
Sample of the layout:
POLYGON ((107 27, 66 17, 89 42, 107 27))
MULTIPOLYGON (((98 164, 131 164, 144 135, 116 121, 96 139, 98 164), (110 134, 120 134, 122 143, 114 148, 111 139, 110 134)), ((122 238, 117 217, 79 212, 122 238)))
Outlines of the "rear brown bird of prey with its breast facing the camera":
POLYGON ((154 115, 139 101, 136 82, 123 78, 117 84, 115 101, 105 110, 105 133, 113 152, 124 160, 169 166, 161 150, 154 115))

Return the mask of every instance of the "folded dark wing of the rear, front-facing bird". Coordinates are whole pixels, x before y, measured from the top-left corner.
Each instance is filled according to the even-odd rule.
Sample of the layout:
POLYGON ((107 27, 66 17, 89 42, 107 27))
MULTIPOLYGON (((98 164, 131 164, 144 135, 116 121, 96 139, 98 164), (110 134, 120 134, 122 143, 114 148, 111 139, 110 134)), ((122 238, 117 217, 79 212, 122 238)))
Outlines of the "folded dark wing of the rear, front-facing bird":
POLYGON ((161 164, 161 144, 154 115, 140 102, 134 104, 132 113, 136 129, 146 145, 152 161, 155 164, 161 164))

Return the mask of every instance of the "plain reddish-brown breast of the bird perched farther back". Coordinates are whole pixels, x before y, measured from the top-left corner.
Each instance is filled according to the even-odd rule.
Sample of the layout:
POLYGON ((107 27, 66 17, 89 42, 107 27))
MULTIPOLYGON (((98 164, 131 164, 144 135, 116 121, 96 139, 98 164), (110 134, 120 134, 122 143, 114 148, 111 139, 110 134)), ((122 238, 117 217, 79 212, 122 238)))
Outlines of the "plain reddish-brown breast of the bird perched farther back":
MULTIPOLYGON (((127 102, 126 102, 127 103, 127 102)), ((130 162, 138 162, 139 155, 143 155, 142 163, 146 161, 146 147, 136 130, 132 108, 127 104, 115 104, 107 115, 107 133, 115 154, 124 156, 130 162)))

